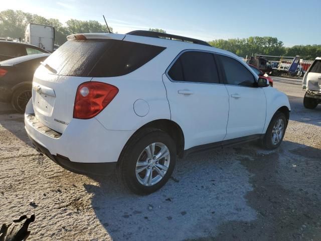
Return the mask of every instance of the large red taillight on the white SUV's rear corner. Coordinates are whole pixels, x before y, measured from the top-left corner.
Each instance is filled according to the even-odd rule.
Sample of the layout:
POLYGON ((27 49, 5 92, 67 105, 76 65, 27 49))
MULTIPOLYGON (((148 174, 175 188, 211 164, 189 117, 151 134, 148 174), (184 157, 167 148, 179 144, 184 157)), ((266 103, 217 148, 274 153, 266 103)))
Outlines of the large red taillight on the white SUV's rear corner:
POLYGON ((85 82, 78 86, 74 118, 89 119, 102 111, 118 93, 118 88, 102 82, 85 82))

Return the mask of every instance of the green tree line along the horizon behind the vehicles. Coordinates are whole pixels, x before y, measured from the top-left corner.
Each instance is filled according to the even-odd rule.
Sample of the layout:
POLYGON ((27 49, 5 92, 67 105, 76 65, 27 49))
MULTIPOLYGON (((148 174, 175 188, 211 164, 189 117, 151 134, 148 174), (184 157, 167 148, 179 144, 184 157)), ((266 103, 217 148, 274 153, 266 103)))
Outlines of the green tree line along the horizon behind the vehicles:
MULTIPOLYGON (((107 27, 98 21, 81 21, 70 19, 62 24, 58 19, 46 19, 36 14, 25 13, 17 10, 0 12, 0 37, 24 38, 25 30, 29 23, 45 24, 55 27, 55 44, 63 44, 66 37, 77 33, 107 33, 107 27)), ((109 27, 112 32, 112 28, 109 27)), ((149 31, 166 33, 163 29, 149 29, 149 31)), ((321 56, 321 45, 296 45, 284 47, 283 42, 274 37, 249 37, 244 39, 217 39, 209 44, 228 50, 238 56, 246 57, 252 54, 296 56, 313 60, 321 56)))

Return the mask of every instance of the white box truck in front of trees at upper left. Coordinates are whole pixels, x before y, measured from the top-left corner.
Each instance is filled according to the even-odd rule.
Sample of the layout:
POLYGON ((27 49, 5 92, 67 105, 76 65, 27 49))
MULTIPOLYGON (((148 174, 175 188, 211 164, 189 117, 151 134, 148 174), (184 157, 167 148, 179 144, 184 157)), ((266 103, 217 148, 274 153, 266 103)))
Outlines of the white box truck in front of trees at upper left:
POLYGON ((36 45, 49 52, 54 51, 55 28, 42 24, 28 24, 25 43, 36 45))

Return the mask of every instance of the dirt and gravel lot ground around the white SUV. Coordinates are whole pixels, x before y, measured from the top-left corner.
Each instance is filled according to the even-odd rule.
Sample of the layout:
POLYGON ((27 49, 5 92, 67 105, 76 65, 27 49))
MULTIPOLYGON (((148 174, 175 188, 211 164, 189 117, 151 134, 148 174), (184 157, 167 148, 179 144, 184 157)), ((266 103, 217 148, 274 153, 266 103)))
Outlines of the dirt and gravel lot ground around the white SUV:
POLYGON ((31 240, 321 240, 321 105, 304 109, 299 85, 274 87, 292 107, 278 150, 190 155, 143 197, 114 175, 89 178, 40 156, 23 115, 2 104, 0 224, 34 212, 31 240))

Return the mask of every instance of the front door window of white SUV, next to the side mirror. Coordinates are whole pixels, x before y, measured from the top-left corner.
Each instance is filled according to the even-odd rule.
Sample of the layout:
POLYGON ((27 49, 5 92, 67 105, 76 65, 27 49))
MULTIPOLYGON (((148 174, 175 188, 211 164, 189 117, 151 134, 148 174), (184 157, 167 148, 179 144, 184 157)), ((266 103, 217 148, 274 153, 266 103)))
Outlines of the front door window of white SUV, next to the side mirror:
POLYGON ((227 84, 254 86, 254 75, 244 65, 233 58, 223 55, 218 56, 222 63, 227 84))

